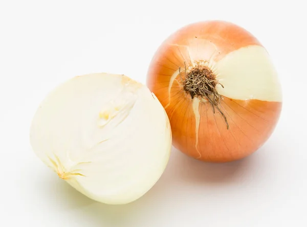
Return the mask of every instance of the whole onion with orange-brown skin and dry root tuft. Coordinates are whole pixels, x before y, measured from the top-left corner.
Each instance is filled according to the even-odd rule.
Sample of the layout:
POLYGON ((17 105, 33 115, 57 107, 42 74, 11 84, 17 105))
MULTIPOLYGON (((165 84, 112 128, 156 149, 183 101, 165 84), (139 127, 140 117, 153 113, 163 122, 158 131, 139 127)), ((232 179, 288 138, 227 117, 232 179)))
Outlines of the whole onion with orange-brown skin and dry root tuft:
POLYGON ((147 86, 167 112, 173 145, 206 162, 254 153, 274 131, 282 106, 266 49, 226 21, 189 24, 168 37, 152 58, 147 86))

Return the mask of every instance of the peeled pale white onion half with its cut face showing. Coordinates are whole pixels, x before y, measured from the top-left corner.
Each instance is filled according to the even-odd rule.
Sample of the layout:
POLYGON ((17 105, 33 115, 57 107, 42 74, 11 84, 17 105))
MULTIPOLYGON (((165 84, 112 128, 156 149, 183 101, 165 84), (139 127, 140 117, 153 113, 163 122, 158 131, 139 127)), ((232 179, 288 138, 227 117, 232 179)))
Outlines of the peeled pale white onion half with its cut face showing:
POLYGON ((36 155, 84 195, 127 204, 169 160, 171 130, 159 100, 125 75, 75 77, 41 103, 31 125, 36 155))

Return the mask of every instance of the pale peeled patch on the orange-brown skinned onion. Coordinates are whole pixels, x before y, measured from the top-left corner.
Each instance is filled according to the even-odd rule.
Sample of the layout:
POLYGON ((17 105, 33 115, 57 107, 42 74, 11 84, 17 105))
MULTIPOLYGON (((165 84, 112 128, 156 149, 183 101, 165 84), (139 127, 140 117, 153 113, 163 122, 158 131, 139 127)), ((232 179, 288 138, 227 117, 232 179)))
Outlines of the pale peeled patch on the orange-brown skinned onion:
POLYGON ((266 49, 251 45, 229 53, 215 63, 219 94, 234 99, 281 102, 281 87, 266 49))

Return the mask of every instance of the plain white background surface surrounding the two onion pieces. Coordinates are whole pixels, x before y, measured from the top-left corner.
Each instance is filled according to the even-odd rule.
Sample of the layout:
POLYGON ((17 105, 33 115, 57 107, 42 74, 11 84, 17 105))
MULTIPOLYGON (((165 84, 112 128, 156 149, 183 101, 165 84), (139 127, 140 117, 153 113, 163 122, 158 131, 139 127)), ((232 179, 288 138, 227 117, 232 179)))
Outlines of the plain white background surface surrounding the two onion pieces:
POLYGON ((0 226, 307 226, 304 1, 1 1, 0 226), (160 43, 188 23, 222 19, 253 33, 283 87, 278 126, 254 155, 206 164, 172 155, 160 181, 124 206, 96 203, 36 158, 29 128, 59 83, 90 72, 145 82, 160 43))

